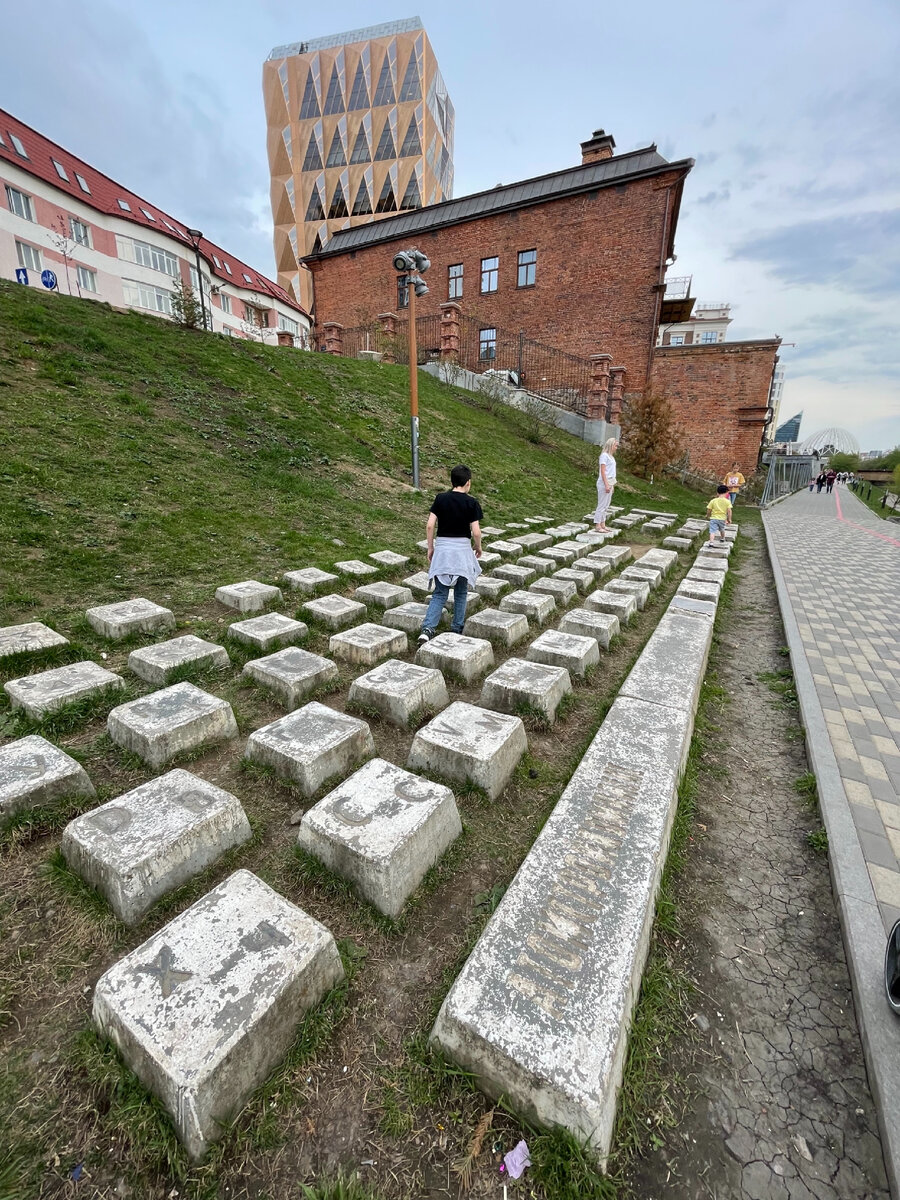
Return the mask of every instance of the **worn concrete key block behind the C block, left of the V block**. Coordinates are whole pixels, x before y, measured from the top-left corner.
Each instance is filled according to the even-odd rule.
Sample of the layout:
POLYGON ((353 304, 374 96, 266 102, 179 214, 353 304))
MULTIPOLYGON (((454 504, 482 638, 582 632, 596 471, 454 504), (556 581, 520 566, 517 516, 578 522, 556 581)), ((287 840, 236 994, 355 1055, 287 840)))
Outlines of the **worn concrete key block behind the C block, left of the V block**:
POLYGON ((374 754, 365 721, 311 701, 251 733, 246 757, 313 796, 336 775, 346 775, 374 754))

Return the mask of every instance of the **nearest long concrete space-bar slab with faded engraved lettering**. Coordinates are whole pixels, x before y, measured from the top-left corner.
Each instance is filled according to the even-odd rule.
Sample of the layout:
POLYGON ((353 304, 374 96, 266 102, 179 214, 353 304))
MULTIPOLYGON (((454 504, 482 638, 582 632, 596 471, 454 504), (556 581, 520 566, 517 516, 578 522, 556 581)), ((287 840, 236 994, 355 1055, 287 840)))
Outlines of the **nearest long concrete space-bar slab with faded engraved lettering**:
POLYGON ((610 1148, 688 714, 619 698, 431 1033, 491 1097, 610 1148))

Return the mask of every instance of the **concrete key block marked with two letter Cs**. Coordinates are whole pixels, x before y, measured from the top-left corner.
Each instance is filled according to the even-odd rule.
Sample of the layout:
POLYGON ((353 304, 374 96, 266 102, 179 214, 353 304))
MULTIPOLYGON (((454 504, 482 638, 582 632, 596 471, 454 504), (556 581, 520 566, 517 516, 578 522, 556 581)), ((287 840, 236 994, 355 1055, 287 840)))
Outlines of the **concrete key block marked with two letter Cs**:
POLYGON ((397 917, 461 833, 449 787, 373 758, 304 814, 298 842, 397 917))

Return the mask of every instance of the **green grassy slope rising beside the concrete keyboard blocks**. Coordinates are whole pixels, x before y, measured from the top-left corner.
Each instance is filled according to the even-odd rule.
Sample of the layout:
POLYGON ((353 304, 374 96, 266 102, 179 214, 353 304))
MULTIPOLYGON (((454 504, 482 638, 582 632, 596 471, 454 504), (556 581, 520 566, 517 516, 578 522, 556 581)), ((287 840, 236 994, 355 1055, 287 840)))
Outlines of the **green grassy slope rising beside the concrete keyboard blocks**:
MULTIPOLYGON (((409 551, 456 462, 487 524, 593 508, 594 448, 529 440, 515 412, 424 373, 416 494, 407 397, 406 367, 0 283, 0 619, 409 551)), ((622 484, 620 504, 702 511, 678 485, 622 484)))

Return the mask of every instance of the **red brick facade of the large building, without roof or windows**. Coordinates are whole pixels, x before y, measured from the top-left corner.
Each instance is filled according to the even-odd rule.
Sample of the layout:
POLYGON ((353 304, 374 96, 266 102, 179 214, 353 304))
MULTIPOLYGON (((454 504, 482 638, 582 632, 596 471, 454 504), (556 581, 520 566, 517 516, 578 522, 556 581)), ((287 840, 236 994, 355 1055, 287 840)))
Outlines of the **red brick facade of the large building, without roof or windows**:
POLYGON ((450 299, 448 269, 462 263, 464 314, 584 358, 612 354, 613 365, 626 368, 626 394, 642 391, 684 174, 664 172, 312 262, 317 330, 396 311, 391 258, 414 245, 432 264, 420 316, 439 313, 450 299), (521 250, 538 251, 534 287, 517 287, 521 250), (482 294, 481 259, 490 257, 499 258, 498 289, 482 294))

